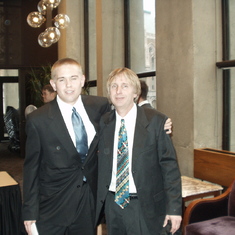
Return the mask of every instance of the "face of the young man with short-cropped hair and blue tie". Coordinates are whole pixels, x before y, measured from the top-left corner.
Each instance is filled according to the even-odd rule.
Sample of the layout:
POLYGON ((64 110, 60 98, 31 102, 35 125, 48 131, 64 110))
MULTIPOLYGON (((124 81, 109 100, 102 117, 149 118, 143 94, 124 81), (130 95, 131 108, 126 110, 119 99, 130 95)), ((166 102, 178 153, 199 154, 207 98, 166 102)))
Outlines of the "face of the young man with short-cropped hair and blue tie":
POLYGON ((80 68, 66 64, 56 68, 54 74, 55 76, 50 80, 53 89, 57 91, 62 101, 74 105, 85 83, 85 77, 80 68))

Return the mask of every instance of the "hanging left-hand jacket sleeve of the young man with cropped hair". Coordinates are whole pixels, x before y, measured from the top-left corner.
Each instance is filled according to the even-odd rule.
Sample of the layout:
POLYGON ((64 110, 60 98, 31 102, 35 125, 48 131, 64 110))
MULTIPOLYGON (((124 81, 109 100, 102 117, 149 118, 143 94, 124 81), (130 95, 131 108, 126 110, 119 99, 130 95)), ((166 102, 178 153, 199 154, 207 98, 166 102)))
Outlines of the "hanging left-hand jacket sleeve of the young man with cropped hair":
POLYGON ((30 120, 26 123, 26 156, 23 170, 23 220, 39 217, 40 138, 30 120))

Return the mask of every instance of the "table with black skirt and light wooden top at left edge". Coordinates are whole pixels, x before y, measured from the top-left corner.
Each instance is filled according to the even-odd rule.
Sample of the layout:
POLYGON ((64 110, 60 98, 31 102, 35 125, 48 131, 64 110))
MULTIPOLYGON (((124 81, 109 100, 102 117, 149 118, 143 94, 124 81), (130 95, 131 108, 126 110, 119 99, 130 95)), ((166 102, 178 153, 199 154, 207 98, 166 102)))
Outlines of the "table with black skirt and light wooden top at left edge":
POLYGON ((0 234, 21 234, 21 192, 19 184, 0 171, 0 234))

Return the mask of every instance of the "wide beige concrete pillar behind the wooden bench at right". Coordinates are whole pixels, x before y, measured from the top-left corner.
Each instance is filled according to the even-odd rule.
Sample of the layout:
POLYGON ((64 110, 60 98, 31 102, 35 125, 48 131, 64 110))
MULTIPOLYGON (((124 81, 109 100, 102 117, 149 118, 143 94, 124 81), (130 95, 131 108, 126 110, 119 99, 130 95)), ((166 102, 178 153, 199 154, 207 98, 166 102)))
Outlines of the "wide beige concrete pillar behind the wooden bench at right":
POLYGON ((157 1, 157 108, 173 120, 184 175, 193 175, 195 148, 221 148, 220 2, 157 1))

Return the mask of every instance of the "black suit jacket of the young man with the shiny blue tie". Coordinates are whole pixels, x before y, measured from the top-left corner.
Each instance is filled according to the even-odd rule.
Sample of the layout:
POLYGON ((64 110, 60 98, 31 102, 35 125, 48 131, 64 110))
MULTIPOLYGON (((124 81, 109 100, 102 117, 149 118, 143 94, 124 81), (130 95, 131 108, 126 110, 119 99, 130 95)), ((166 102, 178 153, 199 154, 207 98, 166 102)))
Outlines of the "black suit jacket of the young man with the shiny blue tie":
MULTIPOLYGON (((110 110, 108 100, 82 95, 82 102, 98 133, 100 117, 110 110)), ((66 226, 79 205, 83 175, 96 198, 98 134, 82 164, 56 99, 27 117, 26 134, 23 219, 66 226)))

